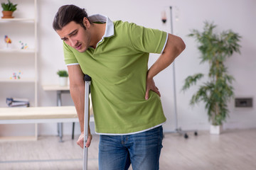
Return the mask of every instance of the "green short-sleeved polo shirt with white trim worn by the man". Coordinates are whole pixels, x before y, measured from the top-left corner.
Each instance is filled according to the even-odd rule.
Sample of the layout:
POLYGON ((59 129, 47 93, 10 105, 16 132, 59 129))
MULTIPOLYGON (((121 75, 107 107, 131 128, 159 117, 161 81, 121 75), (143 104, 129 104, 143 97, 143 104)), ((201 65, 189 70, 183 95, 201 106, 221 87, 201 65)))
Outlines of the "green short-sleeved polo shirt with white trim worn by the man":
POLYGON ((97 47, 81 53, 64 42, 63 48, 65 63, 80 64, 82 72, 92 77, 95 132, 132 134, 164 123, 159 96, 150 91, 145 100, 145 93, 149 53, 162 52, 167 33, 103 16, 91 20, 106 22, 97 47))

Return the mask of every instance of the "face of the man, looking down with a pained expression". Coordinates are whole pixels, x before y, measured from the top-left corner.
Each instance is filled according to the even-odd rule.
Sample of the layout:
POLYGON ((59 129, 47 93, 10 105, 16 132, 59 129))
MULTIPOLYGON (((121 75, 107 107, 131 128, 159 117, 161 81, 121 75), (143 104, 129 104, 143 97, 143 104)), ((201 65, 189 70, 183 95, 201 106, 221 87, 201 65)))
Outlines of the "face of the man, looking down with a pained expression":
POLYGON ((79 52, 85 52, 90 47, 91 36, 89 31, 78 23, 71 21, 61 30, 56 30, 61 40, 79 52))

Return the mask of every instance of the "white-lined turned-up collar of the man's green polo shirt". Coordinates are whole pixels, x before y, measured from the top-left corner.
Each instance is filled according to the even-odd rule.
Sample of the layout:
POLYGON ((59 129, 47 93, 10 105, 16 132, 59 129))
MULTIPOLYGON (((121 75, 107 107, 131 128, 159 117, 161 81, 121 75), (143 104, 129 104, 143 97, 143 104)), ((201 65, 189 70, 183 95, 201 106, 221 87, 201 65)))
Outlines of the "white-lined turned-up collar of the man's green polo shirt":
POLYGON ((103 35, 103 38, 111 37, 114 35, 114 23, 108 18, 107 16, 102 16, 100 14, 95 14, 88 17, 91 22, 101 22, 106 23, 106 30, 105 34, 103 35))

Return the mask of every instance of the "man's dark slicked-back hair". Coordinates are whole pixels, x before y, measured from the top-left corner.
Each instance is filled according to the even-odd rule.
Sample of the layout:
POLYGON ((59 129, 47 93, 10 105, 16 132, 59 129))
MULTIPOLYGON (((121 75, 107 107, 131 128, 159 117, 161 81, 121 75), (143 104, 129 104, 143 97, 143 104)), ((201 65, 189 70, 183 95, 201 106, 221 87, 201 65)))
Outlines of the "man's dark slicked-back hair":
POLYGON ((85 17, 88 18, 85 9, 79 8, 75 5, 60 6, 53 20, 53 29, 61 30, 71 21, 75 21, 75 23, 80 24, 82 28, 85 28, 83 25, 83 18, 85 17))

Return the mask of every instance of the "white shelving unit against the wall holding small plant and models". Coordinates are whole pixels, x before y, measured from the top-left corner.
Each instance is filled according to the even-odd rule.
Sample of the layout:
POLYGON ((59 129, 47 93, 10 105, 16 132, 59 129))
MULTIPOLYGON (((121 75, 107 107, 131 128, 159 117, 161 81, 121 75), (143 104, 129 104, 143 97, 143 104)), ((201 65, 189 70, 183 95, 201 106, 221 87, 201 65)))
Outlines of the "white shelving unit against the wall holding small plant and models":
MULTIPOLYGON (((4 48, 3 45, 0 46, 0 61, 6 62, 7 64, 2 64, 2 68, 0 67, 0 72, 7 72, 6 74, 0 75, 0 91, 3 91, 4 94, 8 95, 9 91, 4 89, 5 87, 12 86, 14 87, 14 91, 17 91, 17 94, 20 91, 28 91, 30 96, 33 96, 31 98, 31 106, 38 106, 38 28, 37 28, 37 0, 31 0, 31 1, 14 1, 13 3, 18 4, 17 8, 20 9, 18 13, 21 15, 17 15, 14 18, 1 18, 0 17, 0 28, 4 27, 4 29, 0 29, 1 31, 6 31, 6 28, 8 30, 8 27, 12 27, 10 30, 8 30, 8 33, 14 32, 14 35, 17 35, 17 38, 14 36, 13 38, 21 40, 28 38, 31 40, 30 45, 28 45, 27 49, 21 49, 18 48, 18 45, 16 47, 12 47, 11 49, 4 48), (27 15, 27 4, 29 4, 29 9, 31 10, 33 8, 33 14, 27 15), (23 6, 22 8, 19 8, 23 6), (20 17, 19 17, 20 16, 20 17), (28 30, 25 30, 25 33, 23 33, 24 29, 28 28, 28 30), (15 58, 15 59, 14 59, 15 58), (14 70, 16 68, 10 63, 12 60, 15 60, 16 63, 20 64, 20 67, 24 70, 28 70, 28 74, 26 76, 22 76, 21 79, 11 79, 12 72, 10 70, 14 70), (23 64, 26 63, 26 64, 23 64), (27 64, 28 63, 28 64, 27 64), (4 67, 3 67, 4 66, 4 67), (8 71, 6 71, 8 69, 8 71), (2 84, 2 85, 1 85, 2 84), (25 84, 25 85, 24 85, 25 84), (22 86, 22 90, 19 89, 19 91, 15 88, 18 86, 22 86), (33 86, 33 88, 31 88, 33 86), (27 89, 26 89, 27 88, 27 89), (33 89, 33 90, 32 90, 33 89), (6 91, 5 91, 6 90, 6 91), (33 94, 31 94, 33 93, 33 94)), ((16 13, 16 11, 14 12, 16 13)), ((1 15, 1 13, 0 13, 1 15)), ((5 33, 1 33, 1 35, 5 33)), ((11 38, 12 39, 12 38, 11 38)), ((3 39, 4 40, 4 37, 3 39)), ((13 42, 12 42, 13 43, 13 42)), ((16 44, 17 44, 16 40, 16 44)), ((18 70, 16 70, 18 72, 18 70)), ((14 94, 14 93, 13 93, 14 94)), ((4 101, 4 98, 6 97, 16 97, 16 96, 4 96, 1 95, 1 101, 4 101)), ((22 97, 26 98, 26 96, 22 97)), ((2 106, 3 104, 1 104, 2 106)), ((35 137, 32 137, 34 140, 37 140, 37 124, 35 124, 35 137)), ((6 138, 6 137, 5 137, 6 138)), ((27 138, 27 137, 23 137, 27 138)), ((0 137, 1 139, 1 137, 0 137)), ((10 138, 11 139, 11 138, 10 138)), ((31 139, 31 137, 28 137, 28 139, 31 139)))

